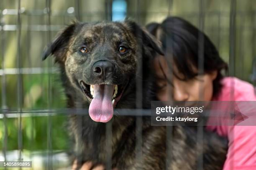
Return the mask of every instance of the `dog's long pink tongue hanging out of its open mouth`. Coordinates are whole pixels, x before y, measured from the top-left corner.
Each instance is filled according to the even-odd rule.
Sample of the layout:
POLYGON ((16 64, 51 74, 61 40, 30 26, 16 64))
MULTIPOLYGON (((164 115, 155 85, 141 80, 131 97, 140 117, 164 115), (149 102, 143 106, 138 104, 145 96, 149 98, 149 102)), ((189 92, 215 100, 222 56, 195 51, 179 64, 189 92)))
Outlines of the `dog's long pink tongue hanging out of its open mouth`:
POLYGON ((94 98, 89 115, 96 122, 108 122, 113 117, 112 96, 114 85, 93 85, 94 98))

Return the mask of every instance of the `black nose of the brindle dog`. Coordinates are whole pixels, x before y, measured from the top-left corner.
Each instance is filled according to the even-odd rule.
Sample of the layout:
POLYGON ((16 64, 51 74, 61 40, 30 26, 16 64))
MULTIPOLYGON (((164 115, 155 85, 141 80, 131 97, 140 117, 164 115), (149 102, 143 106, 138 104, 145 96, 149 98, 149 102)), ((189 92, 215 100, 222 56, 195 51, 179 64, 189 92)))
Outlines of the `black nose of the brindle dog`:
POLYGON ((93 72, 101 78, 107 78, 112 75, 114 65, 109 61, 97 61, 93 65, 93 72))

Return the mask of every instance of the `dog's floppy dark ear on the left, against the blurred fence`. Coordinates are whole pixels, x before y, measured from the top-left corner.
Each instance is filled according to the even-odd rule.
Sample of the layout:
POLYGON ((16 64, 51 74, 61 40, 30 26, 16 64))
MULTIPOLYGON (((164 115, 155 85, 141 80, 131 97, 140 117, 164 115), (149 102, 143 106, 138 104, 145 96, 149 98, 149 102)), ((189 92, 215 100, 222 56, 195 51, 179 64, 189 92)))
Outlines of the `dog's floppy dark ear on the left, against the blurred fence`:
POLYGON ((42 55, 42 60, 45 60, 51 54, 56 57, 56 61, 61 60, 61 57, 64 57, 63 55, 67 52, 69 39, 74 34, 77 25, 78 23, 74 21, 72 24, 61 30, 55 39, 46 46, 42 55))

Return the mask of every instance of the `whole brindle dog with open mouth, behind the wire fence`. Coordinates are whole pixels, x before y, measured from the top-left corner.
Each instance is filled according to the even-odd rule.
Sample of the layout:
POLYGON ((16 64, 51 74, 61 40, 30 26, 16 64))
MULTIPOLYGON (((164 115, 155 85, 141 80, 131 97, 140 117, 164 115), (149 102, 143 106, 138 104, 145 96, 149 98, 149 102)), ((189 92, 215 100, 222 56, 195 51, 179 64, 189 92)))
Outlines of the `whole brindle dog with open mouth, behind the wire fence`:
POLYGON ((151 67, 156 53, 163 55, 159 43, 131 20, 72 23, 47 46, 43 60, 52 54, 59 63, 68 107, 89 108, 89 115, 69 119, 79 167, 86 161, 107 165, 108 123, 112 125, 113 168, 193 170, 198 155, 205 170, 223 167, 227 143, 213 133, 205 132, 204 140, 197 141, 194 128, 174 126, 166 143, 166 127, 151 126, 151 117, 142 116, 142 154, 136 157, 136 116, 112 119, 113 108, 150 108, 151 100, 156 100, 151 67), (142 83, 137 95, 136 80, 142 83), (141 107, 136 97, 141 97, 141 107))

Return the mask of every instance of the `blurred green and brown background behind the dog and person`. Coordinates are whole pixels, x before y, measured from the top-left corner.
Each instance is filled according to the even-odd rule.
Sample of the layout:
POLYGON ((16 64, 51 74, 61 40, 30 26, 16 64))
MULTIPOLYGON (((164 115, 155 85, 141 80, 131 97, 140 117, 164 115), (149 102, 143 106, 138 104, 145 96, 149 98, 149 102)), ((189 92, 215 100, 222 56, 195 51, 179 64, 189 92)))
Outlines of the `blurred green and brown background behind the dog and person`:
POLYGON ((35 170, 69 163, 59 71, 52 57, 41 61, 61 28, 74 19, 129 17, 146 25, 167 16, 203 30, 229 63, 229 75, 255 85, 255 0, 0 0, 0 161, 32 160, 35 170))

